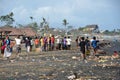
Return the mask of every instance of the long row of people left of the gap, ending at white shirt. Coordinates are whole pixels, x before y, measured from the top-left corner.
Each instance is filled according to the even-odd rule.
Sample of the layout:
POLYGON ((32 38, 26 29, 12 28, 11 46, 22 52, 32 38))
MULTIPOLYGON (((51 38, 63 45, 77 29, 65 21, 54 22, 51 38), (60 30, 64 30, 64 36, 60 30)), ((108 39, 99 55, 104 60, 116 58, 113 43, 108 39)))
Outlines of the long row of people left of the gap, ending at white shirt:
POLYGON ((33 50, 33 47, 35 49, 40 49, 40 51, 53 51, 53 50, 70 50, 71 49, 71 38, 63 37, 61 38, 58 36, 57 38, 52 36, 41 36, 41 37, 23 37, 17 36, 14 38, 14 40, 11 41, 9 36, 6 36, 6 38, 2 38, 0 41, 0 48, 1 48, 1 54, 4 57, 9 58, 11 53, 13 52, 13 47, 15 47, 16 55, 19 55, 21 53, 22 47, 24 44, 26 48, 26 52, 29 53, 33 50), (7 54, 5 54, 7 53, 7 54), (8 55, 9 53, 9 55, 8 55))

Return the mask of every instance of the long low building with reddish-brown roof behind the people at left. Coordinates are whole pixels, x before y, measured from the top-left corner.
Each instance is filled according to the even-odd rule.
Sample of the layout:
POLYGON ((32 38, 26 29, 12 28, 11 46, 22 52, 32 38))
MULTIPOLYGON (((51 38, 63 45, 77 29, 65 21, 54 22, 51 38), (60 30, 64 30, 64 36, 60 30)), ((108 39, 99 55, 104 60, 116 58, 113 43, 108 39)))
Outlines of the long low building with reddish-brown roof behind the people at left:
POLYGON ((37 33, 32 28, 12 28, 12 27, 0 27, 0 34, 1 38, 3 36, 10 36, 14 38, 16 36, 27 36, 27 37, 34 37, 37 36, 37 33))

